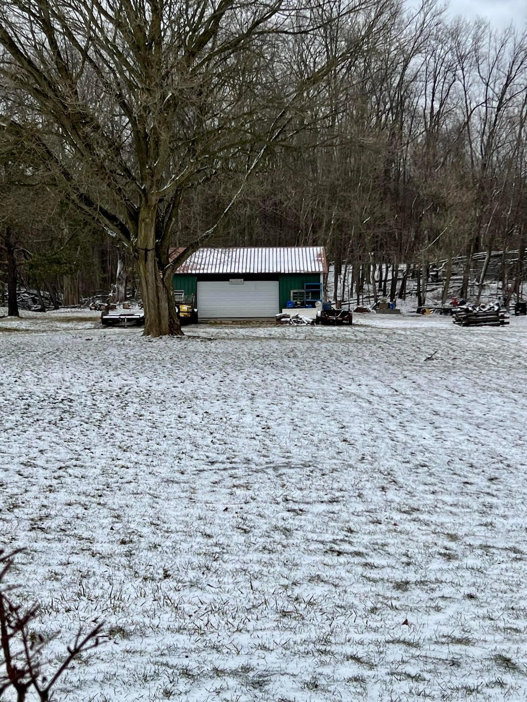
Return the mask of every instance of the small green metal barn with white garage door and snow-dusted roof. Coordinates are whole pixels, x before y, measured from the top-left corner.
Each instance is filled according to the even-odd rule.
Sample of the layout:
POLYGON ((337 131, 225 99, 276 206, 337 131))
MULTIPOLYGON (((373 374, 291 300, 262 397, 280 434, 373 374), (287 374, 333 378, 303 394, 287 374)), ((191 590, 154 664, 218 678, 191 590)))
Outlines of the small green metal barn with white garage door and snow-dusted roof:
POLYGON ((266 319, 315 307, 324 274, 323 246, 205 248, 176 270, 174 291, 195 295, 200 319, 266 319))

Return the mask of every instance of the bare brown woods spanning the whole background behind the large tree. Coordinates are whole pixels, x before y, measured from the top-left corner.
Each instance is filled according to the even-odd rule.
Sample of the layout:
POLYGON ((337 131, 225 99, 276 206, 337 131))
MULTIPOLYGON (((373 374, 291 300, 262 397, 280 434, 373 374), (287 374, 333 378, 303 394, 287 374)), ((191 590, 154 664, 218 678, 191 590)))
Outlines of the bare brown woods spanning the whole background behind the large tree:
MULTIPOLYGON (((226 4, 233 11, 231 20, 247 11, 226 4)), ((200 2, 186 8, 187 13, 212 8, 214 17, 221 5, 200 2)), ((275 21, 280 6, 273 7, 274 14, 268 11, 275 21)), ((45 17, 41 27, 46 34, 45 17)), ((179 115, 177 124, 185 132, 185 147, 174 143, 174 150, 180 150, 175 163, 158 154, 166 158, 165 170, 177 166, 178 172, 171 173, 168 184, 157 185, 169 189, 174 178, 183 184, 168 209, 157 215, 167 217, 176 207, 163 246, 320 244, 337 272, 353 271, 357 296, 365 284, 372 284, 377 294, 379 281, 391 279, 391 289, 384 287, 390 298, 404 295, 410 274, 419 293, 430 265, 438 260, 445 261, 442 276, 448 283, 452 261, 459 256, 464 263, 457 293, 467 298, 469 284, 474 290, 472 259, 483 252, 476 281, 479 297, 490 253, 515 250, 517 256, 502 266, 502 292, 509 299, 517 297, 527 220, 526 32, 450 20, 429 0, 414 12, 392 0, 353 8, 334 0, 318 10, 299 8, 294 28, 280 34, 267 27, 256 35, 257 51, 252 45, 242 55, 224 53, 223 68, 200 74, 198 93, 192 100, 186 95, 184 119, 179 115), (215 86, 212 93, 203 76, 216 80, 222 70, 228 88, 215 86), (282 119, 287 95, 294 99, 287 104, 287 119, 282 119), (207 101, 212 98, 216 103, 207 101), (223 119, 225 114, 228 119, 223 119), (195 167, 205 153, 208 160, 195 167), (183 177, 187 162, 193 164, 190 180, 183 177), (372 272, 377 272, 377 284, 372 272)), ((4 47, 7 41, 4 37, 4 47)), ((60 34, 59 46, 63 53, 70 46, 65 34, 60 34)), ((9 51, 2 57, 0 84, 4 279, 8 259, 15 256, 18 264, 24 262, 19 270, 25 284, 53 289, 57 297, 74 303, 79 295, 109 288, 119 246, 129 273, 137 251, 126 246, 126 237, 119 243, 109 220, 97 220, 79 207, 66 177, 61 184, 51 172, 42 144, 35 148, 35 139, 25 138, 28 124, 41 112, 34 105, 37 98, 20 99, 27 86, 9 75, 9 51)), ((79 47, 77 53, 84 55, 79 47)), ((37 48, 34 58, 39 58, 37 48)), ((56 62, 53 71, 59 77, 60 70, 56 62)), ((84 92, 97 89, 100 76, 95 70, 91 80, 84 92)), ((190 87, 194 90, 195 83, 190 87)), ((143 88, 148 92, 148 85, 143 88)), ((185 91, 189 85, 176 88, 185 91)), ((113 98, 118 101, 119 95, 113 98)), ((131 138, 124 126, 119 131, 110 102, 99 120, 101 114, 115 133, 122 159, 113 171, 106 169, 105 177, 133 180, 133 173, 124 173, 131 138)), ((168 127, 152 122, 145 128, 168 127)), ((42 121, 37 131, 45 131, 42 121)), ((85 168, 67 140, 61 148, 69 173, 85 168)), ((105 154, 105 159, 117 162, 115 154, 105 154)), ((84 177, 89 176, 88 168, 84 177)), ((128 208, 131 199, 121 180, 112 194, 123 199, 117 210, 128 208)), ((103 187, 98 185, 100 192, 103 187)), ((98 207, 95 197, 91 204, 98 207)), ((340 280, 335 283, 341 291, 340 280)), ((445 294, 447 289, 448 284, 445 294)))

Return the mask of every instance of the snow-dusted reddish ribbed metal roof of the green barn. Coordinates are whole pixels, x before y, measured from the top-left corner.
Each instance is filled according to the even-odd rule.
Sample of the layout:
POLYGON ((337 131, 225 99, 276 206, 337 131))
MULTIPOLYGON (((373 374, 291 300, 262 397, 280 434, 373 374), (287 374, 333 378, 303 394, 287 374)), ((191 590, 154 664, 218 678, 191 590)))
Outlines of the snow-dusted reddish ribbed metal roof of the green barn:
MULTIPOLYGON (((183 249, 174 250, 181 253, 183 249)), ((198 249, 176 270, 187 274, 327 273, 323 246, 198 249)))

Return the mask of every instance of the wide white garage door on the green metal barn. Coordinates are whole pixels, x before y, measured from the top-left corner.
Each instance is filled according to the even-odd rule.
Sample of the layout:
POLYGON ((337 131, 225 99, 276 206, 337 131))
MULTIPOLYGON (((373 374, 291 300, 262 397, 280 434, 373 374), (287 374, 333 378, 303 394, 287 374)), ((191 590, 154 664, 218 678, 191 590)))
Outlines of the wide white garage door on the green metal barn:
POLYGON ((280 310, 278 280, 197 282, 197 310, 200 319, 210 317, 273 317, 280 310))

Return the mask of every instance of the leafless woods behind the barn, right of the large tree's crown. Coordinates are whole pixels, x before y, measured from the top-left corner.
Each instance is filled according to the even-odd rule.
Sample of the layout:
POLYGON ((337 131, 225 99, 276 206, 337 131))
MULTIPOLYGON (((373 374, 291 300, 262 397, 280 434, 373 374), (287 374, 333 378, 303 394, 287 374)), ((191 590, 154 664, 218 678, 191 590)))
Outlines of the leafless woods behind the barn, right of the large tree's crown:
POLYGON ((404 295, 401 265, 419 293, 419 277, 439 260, 446 292, 457 257, 457 294, 467 298, 474 254, 485 252, 479 298, 490 253, 513 250, 501 274, 504 295, 517 295, 527 221, 526 33, 450 21, 425 4, 411 20, 398 15, 384 41, 366 46, 331 87, 334 111, 318 146, 301 134, 296 148, 275 152, 222 241, 323 244, 337 270, 353 266, 356 291, 375 282, 375 270, 377 282, 392 282, 384 286, 390 298, 404 295))

